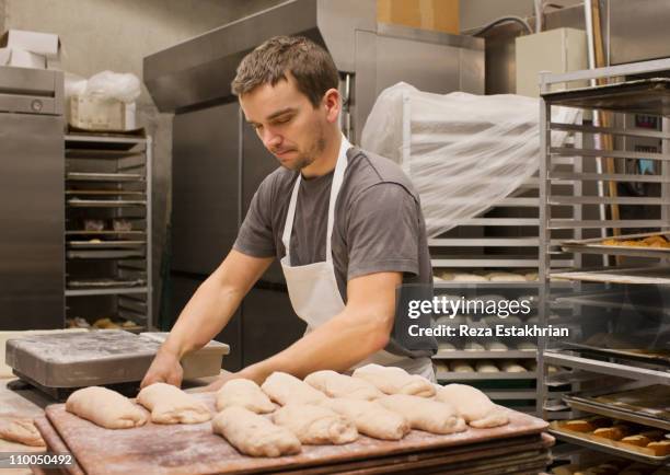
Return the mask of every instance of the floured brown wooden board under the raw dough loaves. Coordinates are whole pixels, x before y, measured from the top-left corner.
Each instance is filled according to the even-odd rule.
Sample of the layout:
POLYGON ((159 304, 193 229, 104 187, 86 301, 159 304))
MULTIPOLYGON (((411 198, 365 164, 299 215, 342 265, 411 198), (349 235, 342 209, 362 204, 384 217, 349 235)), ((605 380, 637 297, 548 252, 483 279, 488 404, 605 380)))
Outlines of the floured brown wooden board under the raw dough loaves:
MULTIPOLYGON (((213 410, 212 394, 196 396, 203 398, 213 410)), ((494 429, 471 428, 450 436, 435 436, 414 430, 401 441, 382 441, 361 436, 358 441, 346 445, 303 445, 302 453, 277 459, 256 459, 240 454, 222 437, 212 433, 210 422, 177 426, 149 422, 135 429, 109 430, 67 413, 62 404, 47 407, 46 415, 85 473, 96 475, 251 474, 278 471, 308 473, 304 472, 308 467, 309 473, 334 473, 332 465, 373 459, 378 459, 377 466, 384 466, 385 470, 366 473, 390 473, 389 465, 393 466, 400 461, 418 462, 417 453, 426 455, 424 459, 442 459, 449 454, 449 459, 442 459, 440 464, 457 462, 458 459, 453 457, 461 453, 464 460, 470 461, 466 465, 470 466, 473 460, 481 459, 487 452, 496 452, 494 455, 497 460, 515 452, 534 451, 532 463, 546 463, 546 448, 533 449, 532 444, 533 441, 540 440, 538 435, 548 425, 535 417, 512 410, 509 410, 510 424, 494 429), (510 443, 517 445, 516 451, 510 443), (325 470, 328 466, 331 468, 325 470), (316 471, 317 467, 323 470, 316 471)), ((335 473, 342 473, 340 468, 335 473)), ((461 468, 454 473, 465 472, 461 468)))

